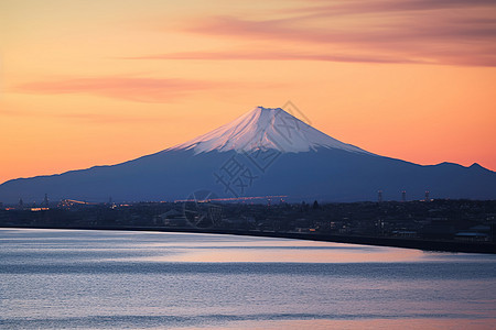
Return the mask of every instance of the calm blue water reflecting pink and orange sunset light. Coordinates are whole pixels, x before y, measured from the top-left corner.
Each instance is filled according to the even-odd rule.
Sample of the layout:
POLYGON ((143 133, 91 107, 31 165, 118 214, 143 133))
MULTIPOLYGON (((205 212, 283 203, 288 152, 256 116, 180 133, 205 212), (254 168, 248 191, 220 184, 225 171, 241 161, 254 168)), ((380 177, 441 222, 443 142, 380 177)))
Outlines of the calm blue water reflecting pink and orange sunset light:
POLYGON ((0 229, 2 329, 494 329, 496 255, 0 229))

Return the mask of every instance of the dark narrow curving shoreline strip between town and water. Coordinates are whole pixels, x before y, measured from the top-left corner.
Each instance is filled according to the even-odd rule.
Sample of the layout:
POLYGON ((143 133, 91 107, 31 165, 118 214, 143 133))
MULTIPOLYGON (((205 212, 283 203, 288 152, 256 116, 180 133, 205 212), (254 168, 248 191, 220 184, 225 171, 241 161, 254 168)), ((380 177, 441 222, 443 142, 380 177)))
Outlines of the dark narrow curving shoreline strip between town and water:
POLYGON ((492 243, 492 242, 463 242, 463 241, 459 242, 459 241, 442 241, 442 240, 436 241, 436 240, 380 238, 380 237, 365 237, 365 235, 335 235, 335 234, 323 234, 323 233, 249 231, 249 230, 228 230, 228 229, 207 229, 207 228, 198 229, 198 228, 126 227, 126 226, 61 227, 61 226, 6 226, 6 224, 0 226, 0 228, 3 228, 3 229, 154 231, 154 232, 228 234, 228 235, 292 239, 292 240, 322 241, 322 242, 334 242, 334 243, 346 243, 346 244, 416 249, 416 250, 422 250, 422 251, 496 254, 496 243, 492 243))

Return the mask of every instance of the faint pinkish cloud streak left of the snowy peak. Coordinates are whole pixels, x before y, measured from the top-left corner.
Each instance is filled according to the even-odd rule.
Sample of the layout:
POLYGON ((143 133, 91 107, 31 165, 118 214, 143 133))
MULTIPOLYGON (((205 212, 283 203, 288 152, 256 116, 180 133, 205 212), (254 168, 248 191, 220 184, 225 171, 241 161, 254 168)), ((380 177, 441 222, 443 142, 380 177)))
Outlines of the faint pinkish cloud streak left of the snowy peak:
POLYGON ((191 92, 226 85, 187 79, 93 77, 32 81, 15 86, 12 91, 40 95, 89 94, 137 102, 160 103, 174 101, 191 92))

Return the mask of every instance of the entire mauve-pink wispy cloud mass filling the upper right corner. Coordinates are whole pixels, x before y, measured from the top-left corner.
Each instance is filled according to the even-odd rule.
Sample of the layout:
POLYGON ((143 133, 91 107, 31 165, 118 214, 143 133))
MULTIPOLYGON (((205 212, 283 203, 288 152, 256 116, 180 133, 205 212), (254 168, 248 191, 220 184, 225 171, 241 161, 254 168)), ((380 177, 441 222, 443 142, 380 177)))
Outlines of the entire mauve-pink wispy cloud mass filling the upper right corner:
POLYGON ((249 14, 202 16, 181 28, 206 37, 245 42, 247 50, 256 46, 256 51, 198 51, 132 58, 496 66, 494 0, 306 1, 280 9, 272 16, 278 19, 249 14))

